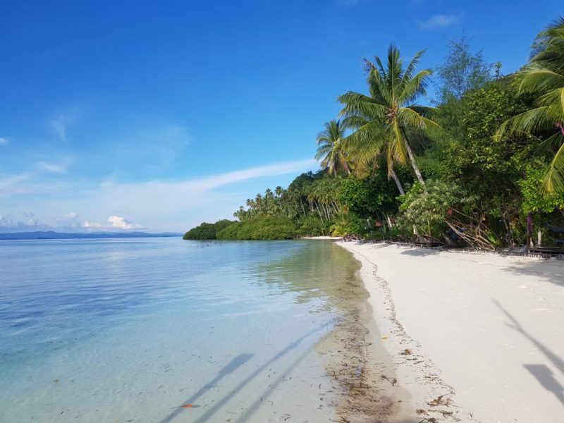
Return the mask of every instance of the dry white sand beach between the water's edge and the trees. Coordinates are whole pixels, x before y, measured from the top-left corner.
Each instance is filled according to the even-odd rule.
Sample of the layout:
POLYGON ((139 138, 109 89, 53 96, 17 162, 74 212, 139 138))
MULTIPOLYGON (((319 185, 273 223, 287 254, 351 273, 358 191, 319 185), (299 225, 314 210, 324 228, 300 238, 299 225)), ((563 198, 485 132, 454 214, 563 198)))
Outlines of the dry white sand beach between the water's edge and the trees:
POLYGON ((422 421, 564 422, 563 261, 339 245, 422 421))

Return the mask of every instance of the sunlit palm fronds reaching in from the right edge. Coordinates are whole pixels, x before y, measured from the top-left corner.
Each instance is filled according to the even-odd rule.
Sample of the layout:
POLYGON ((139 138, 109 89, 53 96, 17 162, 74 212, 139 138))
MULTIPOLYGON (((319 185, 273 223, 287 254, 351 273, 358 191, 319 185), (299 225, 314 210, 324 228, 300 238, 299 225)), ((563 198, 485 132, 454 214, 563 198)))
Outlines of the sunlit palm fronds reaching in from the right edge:
POLYGON ((519 133, 550 131, 544 146, 556 146, 556 154, 544 176, 545 192, 564 192, 564 17, 541 32, 533 44, 533 55, 519 73, 519 93, 539 94, 534 109, 505 121, 496 140, 519 133))

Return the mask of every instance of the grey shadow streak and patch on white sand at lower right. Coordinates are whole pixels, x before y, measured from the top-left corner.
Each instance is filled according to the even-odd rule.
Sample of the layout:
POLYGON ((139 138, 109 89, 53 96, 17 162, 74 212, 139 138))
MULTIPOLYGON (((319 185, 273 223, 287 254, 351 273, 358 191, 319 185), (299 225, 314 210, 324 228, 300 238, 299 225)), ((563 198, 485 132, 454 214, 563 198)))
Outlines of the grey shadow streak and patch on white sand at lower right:
MULTIPOLYGON (((553 353, 552 350, 548 349, 543 343, 541 343, 527 331, 525 331, 525 329, 521 326, 517 319, 515 319, 515 317, 513 317, 506 309, 504 309, 497 300, 493 301, 501 310, 501 312, 505 314, 505 317, 507 317, 511 321, 511 324, 508 324, 508 326, 515 329, 515 331, 521 333, 522 336, 525 336, 525 338, 531 341, 537 348, 539 348, 541 353, 543 353, 546 358, 548 358, 548 360, 550 360, 552 364, 554 364, 554 366, 558 370, 560 370, 562 374, 564 374, 564 360, 562 359, 562 357, 556 355, 556 353, 553 353)), ((525 367, 525 369, 527 369, 534 376, 534 378, 539 381, 539 384, 541 384, 541 386, 545 388, 546 391, 552 392, 556 396, 556 398, 560 400, 560 403, 564 405, 564 386, 562 386, 560 382, 558 382, 554 378, 554 374, 551 369, 549 369, 545 364, 523 364, 523 367, 525 367)))

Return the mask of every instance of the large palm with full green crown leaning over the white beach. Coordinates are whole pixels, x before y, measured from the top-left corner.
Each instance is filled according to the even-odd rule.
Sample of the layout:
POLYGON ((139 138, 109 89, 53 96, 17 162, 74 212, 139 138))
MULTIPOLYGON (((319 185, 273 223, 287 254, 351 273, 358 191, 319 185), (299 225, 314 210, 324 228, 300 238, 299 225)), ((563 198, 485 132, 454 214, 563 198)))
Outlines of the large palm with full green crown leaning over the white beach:
POLYGON ((407 133, 432 133, 441 128, 431 118, 434 107, 415 103, 418 97, 426 94, 425 89, 432 73, 430 69, 416 73, 423 53, 424 51, 417 52, 404 69, 400 51, 391 45, 388 48, 386 67, 378 56, 374 58, 374 62, 364 59, 368 95, 349 91, 338 97, 338 101, 343 104, 340 113, 344 117, 343 123, 355 129, 345 138, 348 151, 357 159, 360 168, 374 164, 377 157, 385 154, 388 176, 396 180, 400 192, 403 189, 393 171, 393 165, 405 164, 407 158, 417 180, 424 185, 407 133))

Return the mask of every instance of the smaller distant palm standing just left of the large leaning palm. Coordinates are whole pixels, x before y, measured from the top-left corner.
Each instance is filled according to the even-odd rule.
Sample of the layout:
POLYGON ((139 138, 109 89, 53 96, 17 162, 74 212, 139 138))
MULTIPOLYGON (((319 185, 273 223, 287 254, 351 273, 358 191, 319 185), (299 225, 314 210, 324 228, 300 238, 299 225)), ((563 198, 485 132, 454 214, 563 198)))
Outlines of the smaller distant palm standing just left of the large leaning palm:
POLYGON ((350 173, 348 158, 343 149, 345 127, 341 121, 331 120, 325 123, 325 130, 317 135, 317 153, 315 159, 321 159, 321 166, 329 173, 337 175, 339 170, 350 173))

